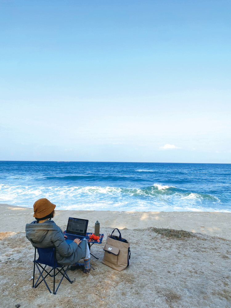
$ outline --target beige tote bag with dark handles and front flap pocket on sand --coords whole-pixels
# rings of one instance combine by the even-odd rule
[[[119,236],[112,235],[115,230],[118,230]],[[107,236],[107,242],[103,250],[103,264],[118,271],[128,267],[131,256],[130,243],[121,237],[119,229],[114,229],[112,233]]]

